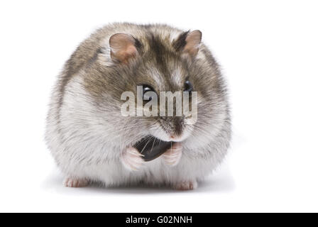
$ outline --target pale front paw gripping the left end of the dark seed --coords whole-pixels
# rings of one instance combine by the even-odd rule
[[[138,152],[136,148],[127,148],[123,155],[121,155],[121,163],[124,165],[126,170],[136,171],[143,165],[143,155]]]

